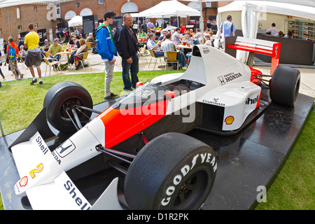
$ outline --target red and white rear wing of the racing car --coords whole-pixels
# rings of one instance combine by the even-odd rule
[[[248,66],[253,66],[255,53],[271,56],[271,75],[276,66],[279,65],[281,43],[254,38],[245,38],[242,36],[228,36],[225,38],[225,52],[233,57],[236,57],[237,50],[245,50],[249,52],[247,60]]]

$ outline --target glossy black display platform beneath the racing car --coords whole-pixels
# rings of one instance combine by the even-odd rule
[[[97,110],[109,104],[95,105]],[[222,137],[200,130],[188,133],[218,154],[216,182],[202,209],[254,209],[259,186],[269,188],[293,150],[314,106],[314,98],[299,94],[293,108],[271,104],[244,130]],[[31,209],[25,197],[15,195],[13,186],[20,178],[8,146],[23,132],[0,138],[0,189],[4,209]],[[98,160],[98,158],[95,158]],[[97,162],[97,161],[93,161]],[[76,181],[90,201],[96,200],[117,172],[108,170]],[[119,174],[121,176],[122,174]],[[89,186],[85,186],[86,183]],[[89,192],[89,193],[87,193]]]

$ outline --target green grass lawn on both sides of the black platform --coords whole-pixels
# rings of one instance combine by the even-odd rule
[[[146,82],[148,78],[174,72],[176,71],[141,71],[139,80]],[[104,102],[104,73],[43,77],[43,85],[29,85],[30,79],[3,82],[0,88],[0,120],[4,134],[27,127],[43,108],[43,99],[50,87],[64,80],[83,85],[90,92],[93,104]],[[123,91],[120,72],[114,73],[111,90],[116,94],[127,94]],[[267,202],[258,204],[256,209],[315,208],[314,133],[315,113],[311,112],[297,145],[267,192]],[[3,206],[0,197],[1,209]]]

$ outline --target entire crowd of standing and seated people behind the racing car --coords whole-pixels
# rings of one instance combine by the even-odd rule
[[[40,67],[41,62],[43,62],[43,57],[48,57],[48,62],[59,61],[61,55],[59,52],[62,52],[63,43],[66,43],[69,45],[69,50],[73,51],[69,57],[68,63],[75,64],[76,69],[78,69],[80,67],[78,60],[82,59],[83,52],[87,51],[86,42],[90,42],[92,52],[101,55],[104,61],[106,74],[104,99],[109,100],[117,96],[117,94],[114,94],[110,90],[116,56],[120,55],[122,58],[124,90],[132,91],[132,88],[135,88],[139,81],[137,76],[139,72],[139,58],[137,55],[139,50],[138,43],[146,43],[148,49],[154,50],[156,57],[163,55],[167,57],[166,51],[177,50],[177,58],[182,66],[186,65],[186,59],[188,59],[189,54],[186,50],[184,52],[181,51],[179,45],[183,43],[183,41],[190,45],[200,43],[201,33],[199,29],[196,29],[196,33],[193,32],[193,29],[190,29],[190,31],[181,34],[181,29],[179,28],[173,31],[172,34],[167,33],[167,31],[163,32],[156,42],[155,26],[158,27],[159,25],[157,23],[153,24],[150,20],[146,20],[140,26],[134,26],[132,16],[128,13],[123,17],[123,25],[113,34],[109,25],[113,24],[115,17],[116,14],[113,13],[113,11],[108,11],[104,14],[104,23],[97,28],[96,40],[92,33],[83,38],[82,32],[78,31],[78,29],[75,30],[72,36],[69,29],[57,29],[57,38],[54,38],[52,43],[48,43],[46,39],[42,48],[39,48],[39,36],[36,31],[34,31],[34,25],[30,23],[28,27],[29,34],[25,36],[24,42],[21,41],[20,38],[18,38],[18,45],[12,41],[13,38],[8,40],[8,44],[6,44],[6,41],[3,41],[3,43],[6,44],[3,52],[8,55],[8,45],[13,45],[16,55],[15,60],[10,60],[9,57],[6,57],[6,64],[8,64],[15,78],[19,79],[23,78],[24,75],[21,73],[20,69],[18,69],[16,62],[25,62],[33,77],[30,84],[33,85],[37,83],[37,77],[39,79],[38,83],[43,84]],[[212,34],[209,29],[206,30],[204,35],[206,44],[211,45],[209,41],[212,41]],[[115,36],[115,38],[113,36]],[[48,56],[46,56],[46,53]],[[172,66],[172,64],[169,64],[169,66]],[[34,67],[37,71],[37,77],[35,76]],[[53,68],[57,69],[57,64],[53,65]],[[4,79],[5,77],[1,69],[0,74]]]

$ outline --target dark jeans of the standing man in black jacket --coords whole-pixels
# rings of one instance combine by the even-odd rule
[[[124,83],[124,90],[130,90],[132,87],[136,88],[138,79],[138,71],[139,71],[139,57],[138,55],[132,55],[132,64],[127,62],[127,59],[122,59],[122,66],[123,66],[123,83]],[[130,75],[129,75],[130,71]],[[131,80],[130,80],[131,76]]]

